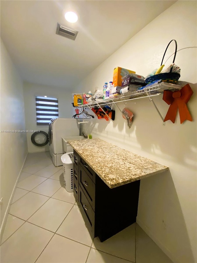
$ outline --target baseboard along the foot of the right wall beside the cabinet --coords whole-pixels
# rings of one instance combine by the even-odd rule
[[[158,247],[163,251],[163,253],[165,253],[171,259],[171,261],[173,261],[174,263],[182,263],[171,253],[171,251],[166,246],[164,246],[161,243],[161,241],[158,238],[156,238],[151,233],[147,225],[145,225],[141,220],[139,220],[138,217],[136,218],[136,223],[139,224],[139,226],[144,230],[144,232],[147,233],[147,235],[155,242],[156,245],[158,245]]]

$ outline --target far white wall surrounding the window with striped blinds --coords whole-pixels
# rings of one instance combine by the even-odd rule
[[[26,130],[42,130],[48,133],[49,126],[37,126],[36,125],[36,96],[47,96],[58,98],[59,106],[59,118],[72,118],[74,114],[71,103],[71,92],[66,91],[58,87],[50,87],[45,85],[38,85],[34,83],[24,82],[24,101],[25,101],[25,122]],[[28,152],[42,152],[49,151],[49,144],[43,147],[35,146],[31,142],[31,135],[33,133],[27,133]]]

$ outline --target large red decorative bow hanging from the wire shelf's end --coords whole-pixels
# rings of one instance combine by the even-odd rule
[[[183,123],[183,121],[185,120],[192,121],[192,117],[186,105],[192,94],[193,90],[191,89],[189,84],[186,84],[183,88],[174,92],[164,90],[163,100],[168,105],[170,105],[164,121],[171,120],[173,123],[175,123],[177,109],[179,109],[181,123]]]

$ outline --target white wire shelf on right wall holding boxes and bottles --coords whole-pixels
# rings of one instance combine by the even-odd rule
[[[124,94],[121,94],[115,97],[109,97],[104,100],[98,100],[98,101],[94,101],[91,103],[78,105],[77,107],[78,108],[81,108],[81,107],[91,108],[91,107],[98,106],[98,105],[102,106],[102,105],[107,105],[110,103],[117,103],[120,101],[139,99],[142,97],[152,97],[152,96],[156,96],[159,94],[163,94],[164,90],[170,90],[170,91],[180,90],[182,88],[181,81],[179,82],[179,84],[180,85],[161,82],[159,84],[154,84],[144,89],[140,89],[140,90],[136,90],[132,92],[126,92]]]

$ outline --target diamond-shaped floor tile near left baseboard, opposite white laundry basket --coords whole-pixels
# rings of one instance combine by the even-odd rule
[[[44,182],[45,180],[46,180],[45,177],[31,175],[28,178],[19,182],[17,187],[31,191],[32,189],[34,189],[36,186],[38,186],[40,183]]]

